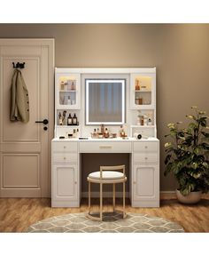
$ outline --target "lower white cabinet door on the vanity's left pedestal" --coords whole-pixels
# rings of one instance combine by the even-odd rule
[[[53,200],[78,199],[77,164],[54,164],[52,181]]]

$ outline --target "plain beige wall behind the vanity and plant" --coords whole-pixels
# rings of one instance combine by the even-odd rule
[[[54,37],[57,67],[156,67],[160,188],[166,124],[197,105],[209,113],[209,24],[0,24],[0,37]]]

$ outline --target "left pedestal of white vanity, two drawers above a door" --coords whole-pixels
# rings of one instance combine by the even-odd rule
[[[52,141],[51,144],[51,206],[79,207],[78,143]]]

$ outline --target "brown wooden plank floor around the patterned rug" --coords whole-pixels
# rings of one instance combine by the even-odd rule
[[[94,199],[92,210],[98,209]],[[120,202],[116,202],[120,204]],[[104,211],[111,211],[111,202],[104,199]],[[185,232],[209,232],[209,199],[196,205],[179,204],[176,200],[161,200],[159,208],[132,208],[127,212],[147,213],[179,223]],[[38,220],[71,212],[87,212],[87,199],[80,208],[51,208],[49,198],[0,198],[0,232],[24,232]]]

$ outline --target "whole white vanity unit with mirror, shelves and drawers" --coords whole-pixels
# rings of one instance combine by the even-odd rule
[[[80,206],[81,196],[86,192],[81,191],[81,179],[87,178],[82,175],[81,154],[127,153],[131,206],[159,207],[156,68],[56,68],[55,71],[51,206]],[[101,98],[103,95],[107,98]],[[125,108],[121,108],[124,110],[119,109],[124,104]],[[104,111],[106,119],[102,117]],[[66,125],[67,116],[74,114],[76,124]],[[118,134],[123,124],[127,137],[92,139],[91,134],[100,132],[101,124],[112,135]]]

